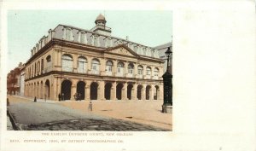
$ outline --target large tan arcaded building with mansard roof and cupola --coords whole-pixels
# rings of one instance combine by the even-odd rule
[[[84,30],[58,25],[31,50],[25,96],[59,100],[162,100],[158,50],[111,36],[103,15]]]

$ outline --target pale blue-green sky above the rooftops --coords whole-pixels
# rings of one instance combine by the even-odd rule
[[[155,47],[172,41],[172,11],[156,10],[9,10],[8,71],[26,63],[30,50],[58,24],[90,30],[99,14],[113,37]]]

